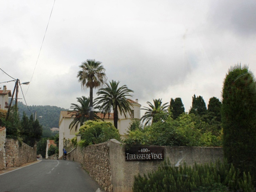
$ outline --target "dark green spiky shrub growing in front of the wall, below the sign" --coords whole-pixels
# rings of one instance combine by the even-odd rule
[[[250,174],[239,177],[239,171],[225,162],[171,166],[164,161],[158,170],[135,176],[134,192],[255,192]]]

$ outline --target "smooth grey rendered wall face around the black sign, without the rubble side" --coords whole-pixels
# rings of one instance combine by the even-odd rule
[[[223,160],[222,148],[214,147],[179,147],[165,146],[164,159],[169,159],[172,165],[204,164]],[[157,170],[162,161],[126,161],[125,145],[118,141],[110,141],[110,166],[112,173],[113,192],[132,192],[135,175],[148,174]]]

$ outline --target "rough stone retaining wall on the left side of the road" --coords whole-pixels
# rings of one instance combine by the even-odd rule
[[[24,142],[6,138],[5,150],[6,168],[36,161],[36,146],[30,147]]]

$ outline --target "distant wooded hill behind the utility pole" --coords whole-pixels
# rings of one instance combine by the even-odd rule
[[[23,112],[25,112],[25,114],[28,117],[30,117],[31,113],[28,110],[28,108],[32,112],[33,117],[35,112],[37,113],[36,114],[37,118],[39,116],[43,116],[42,118],[38,118],[38,120],[44,129],[59,127],[60,111],[68,110],[68,109],[60,108],[57,106],[50,106],[50,105],[46,105],[46,106],[32,105],[27,107],[22,102],[18,102],[18,110],[19,110],[20,118],[22,118]]]

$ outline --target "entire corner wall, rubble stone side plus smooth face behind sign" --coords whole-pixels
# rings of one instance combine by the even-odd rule
[[[164,148],[164,158],[173,165],[193,165],[223,160],[222,148],[170,147]],[[72,150],[68,160],[80,162],[106,192],[132,192],[134,176],[157,170],[162,161],[126,161],[125,145],[117,140]]]

